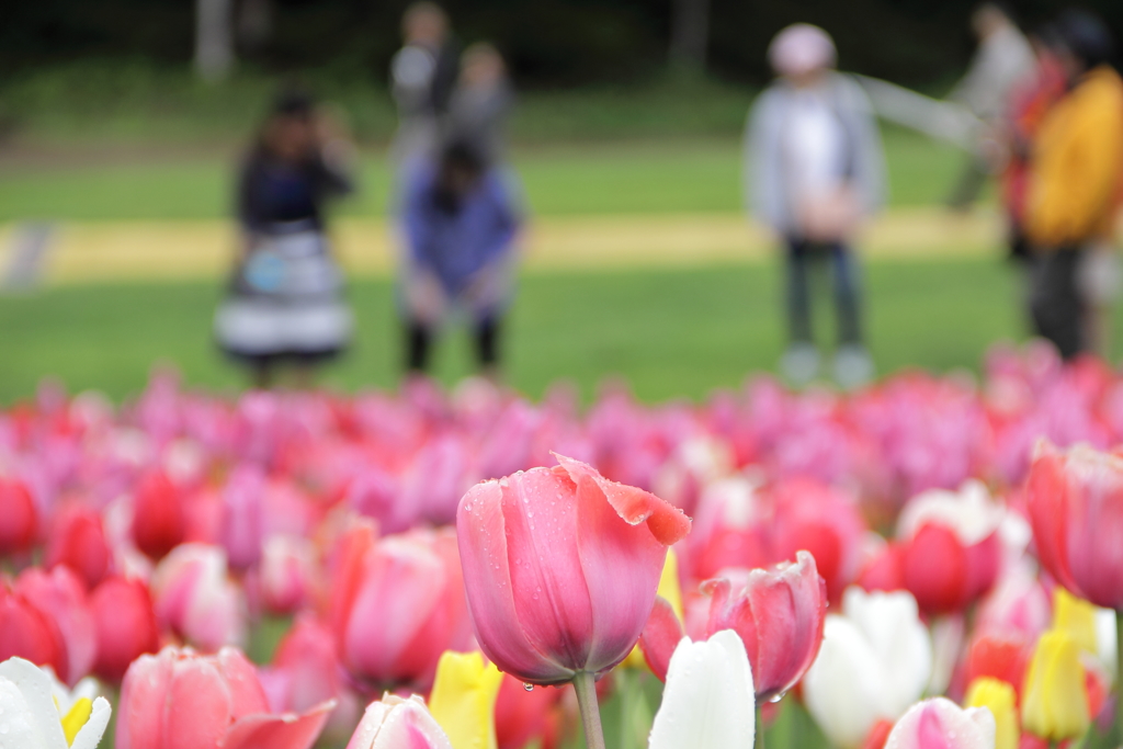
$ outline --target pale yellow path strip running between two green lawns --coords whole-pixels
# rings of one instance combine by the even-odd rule
[[[0,226],[0,272],[9,262],[11,231]],[[332,236],[349,273],[392,271],[396,243],[386,221],[340,219]],[[993,212],[957,217],[915,208],[885,213],[866,230],[860,248],[868,257],[965,256],[995,252],[1001,240],[1002,222]],[[774,252],[766,231],[734,213],[539,218],[522,244],[524,266],[535,271],[759,262]],[[65,223],[45,281],[214,278],[228,271],[235,246],[228,221]]]

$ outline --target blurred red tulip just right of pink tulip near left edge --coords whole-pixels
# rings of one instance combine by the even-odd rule
[[[129,664],[159,649],[159,629],[148,587],[138,579],[107,577],[90,595],[98,633],[93,672],[118,683]]]

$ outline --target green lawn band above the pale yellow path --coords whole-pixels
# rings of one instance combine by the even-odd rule
[[[885,134],[892,202],[939,201],[962,162],[951,147],[898,129]],[[232,161],[174,152],[102,165],[15,165],[0,171],[0,222],[27,218],[200,219],[228,216]],[[521,146],[514,166],[542,216],[736,211],[740,144],[733,138]],[[381,152],[364,154],[363,190],[341,207],[383,216],[390,174]]]

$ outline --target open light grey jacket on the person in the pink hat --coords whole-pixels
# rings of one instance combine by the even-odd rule
[[[885,155],[873,109],[861,86],[841,73],[830,73],[828,97],[847,134],[847,182],[861,208],[871,214],[885,202]],[[797,231],[783,137],[794,89],[783,80],[761,93],[745,128],[745,194],[748,209],[782,235]]]

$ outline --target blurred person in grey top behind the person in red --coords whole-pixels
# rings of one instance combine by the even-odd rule
[[[1033,74],[1037,61],[1011,13],[997,2],[983,2],[975,9],[971,30],[978,38],[978,49],[949,98],[967,104],[976,117],[993,125],[1006,113],[1014,88]],[[979,150],[985,152],[986,146],[979,144]],[[989,173],[987,159],[982,154],[973,155],[948,204],[956,210],[970,208]]]

